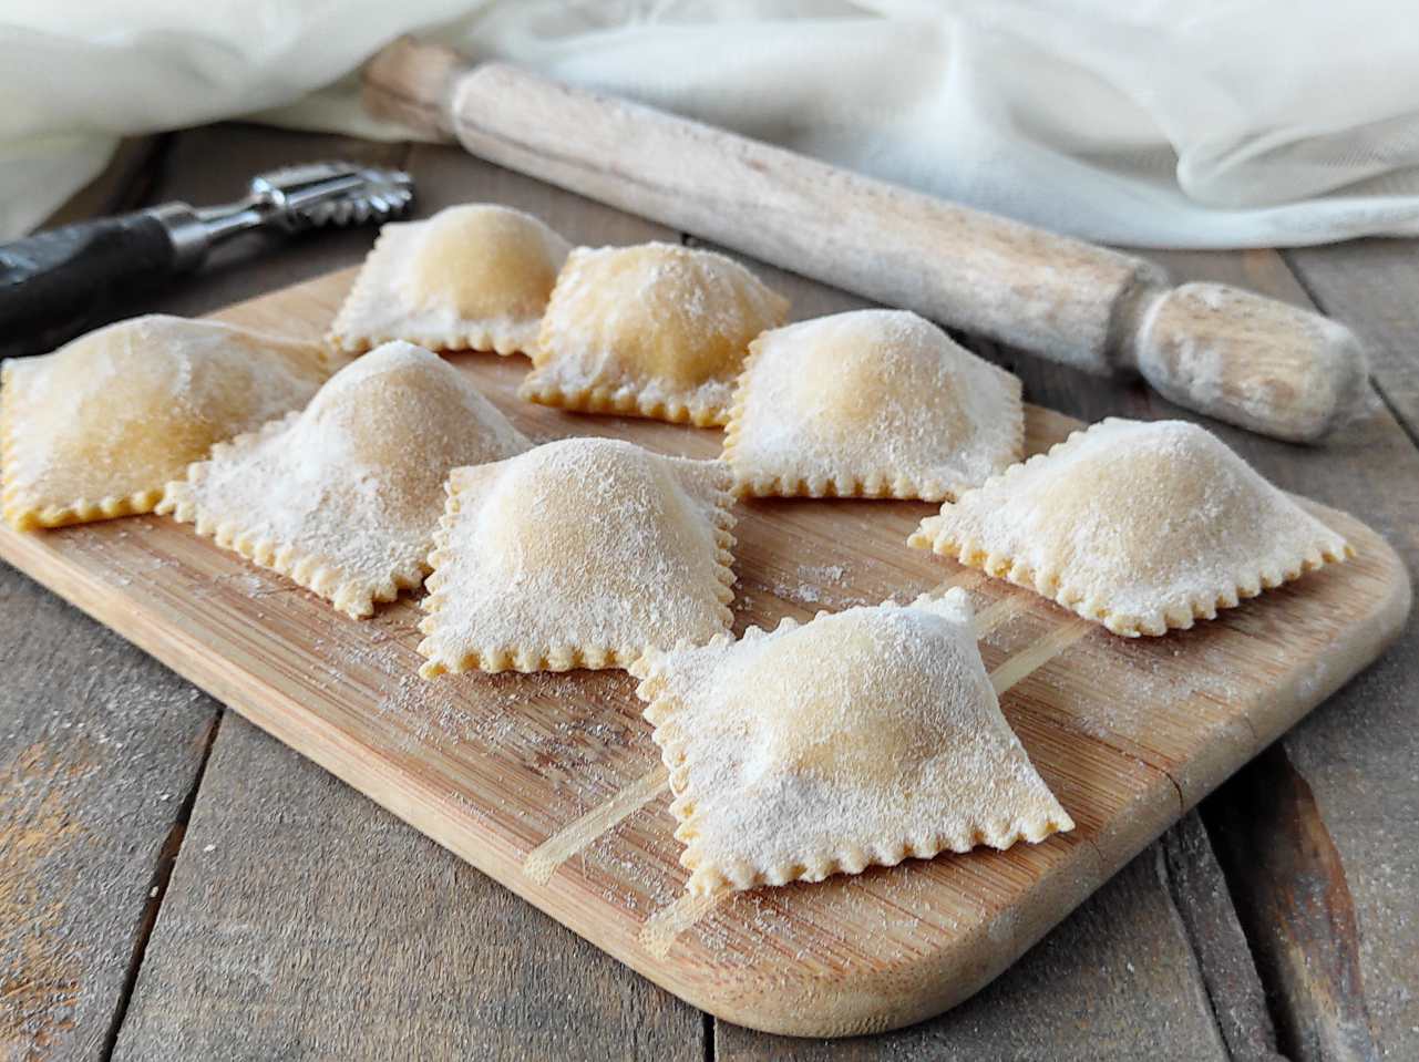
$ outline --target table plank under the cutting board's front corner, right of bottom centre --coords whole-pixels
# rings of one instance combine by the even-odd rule
[[[719,1062],[1122,1062],[1226,1059],[1156,845],[1120,871],[1009,973],[939,1018],[847,1041],[766,1036],[718,1022]]]

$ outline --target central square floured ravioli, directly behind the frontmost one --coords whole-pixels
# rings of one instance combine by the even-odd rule
[[[429,557],[421,673],[624,666],[732,620],[729,469],[569,438],[458,468]]]

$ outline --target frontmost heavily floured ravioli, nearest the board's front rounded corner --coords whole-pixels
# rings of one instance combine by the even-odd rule
[[[1073,829],[1010,730],[964,590],[636,661],[690,892]]]

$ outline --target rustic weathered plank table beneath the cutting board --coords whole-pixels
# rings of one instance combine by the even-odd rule
[[[410,169],[421,214],[495,200],[580,240],[675,235],[450,147],[243,125],[126,146],[58,220],[219,201],[261,169],[333,156]],[[370,238],[233,248],[129,309],[209,312],[353,264]],[[1315,305],[1368,340],[1375,407],[1342,440],[1222,434],[1419,569],[1415,241],[1154,257]],[[861,305],[766,272],[799,316]],[[1043,406],[1179,415],[1141,387],[972,346]],[[1413,620],[986,991],[837,1042],[667,995],[4,566],[0,647],[4,1059],[1419,1058]]]

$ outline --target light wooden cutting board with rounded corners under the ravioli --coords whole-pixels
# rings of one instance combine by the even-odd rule
[[[219,316],[316,336],[352,276]],[[521,357],[453,360],[534,440],[718,454],[718,431],[519,403]],[[1029,452],[1076,427],[1029,407]],[[719,902],[683,893],[666,774],[624,672],[424,682],[410,601],[348,620],[156,516],[3,527],[0,556],[684,1000],[759,1029],[837,1036],[975,993],[1398,634],[1410,600],[1399,557],[1354,518],[1307,508],[1351,540],[1354,561],[1193,631],[1128,641],[908,549],[935,506],[742,503],[735,631],[966,587],[1005,715],[1077,828]]]

